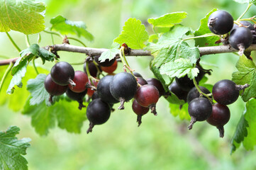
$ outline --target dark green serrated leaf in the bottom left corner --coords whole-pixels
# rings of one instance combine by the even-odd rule
[[[11,126],[5,132],[0,132],[0,169],[28,169],[28,162],[21,154],[26,154],[30,139],[18,140],[16,135],[19,130]]]

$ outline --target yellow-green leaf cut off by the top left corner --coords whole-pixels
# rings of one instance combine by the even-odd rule
[[[45,29],[45,4],[32,0],[0,1],[0,32],[17,30],[26,35]]]

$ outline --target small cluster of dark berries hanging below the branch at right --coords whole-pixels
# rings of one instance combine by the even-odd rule
[[[188,79],[187,83],[184,82],[184,84],[189,84],[190,81]],[[223,79],[214,84],[211,94],[204,86],[194,86],[189,90],[184,89],[183,84],[179,85],[178,82],[173,82],[169,86],[169,91],[172,91],[179,99],[189,103],[188,110],[191,117],[189,130],[192,129],[196,121],[206,120],[210,125],[216,126],[220,132],[220,137],[223,137],[223,126],[228,123],[230,118],[230,111],[226,105],[234,103],[238,99],[239,91],[245,89],[247,85],[240,86],[233,81]],[[217,103],[213,103],[213,99]]]

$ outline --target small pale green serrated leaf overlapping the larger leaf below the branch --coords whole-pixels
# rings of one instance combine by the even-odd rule
[[[180,58],[174,62],[167,62],[160,67],[160,74],[167,74],[169,77],[184,77],[186,74],[189,79],[194,79],[199,73],[199,69],[194,67],[190,60]]]

